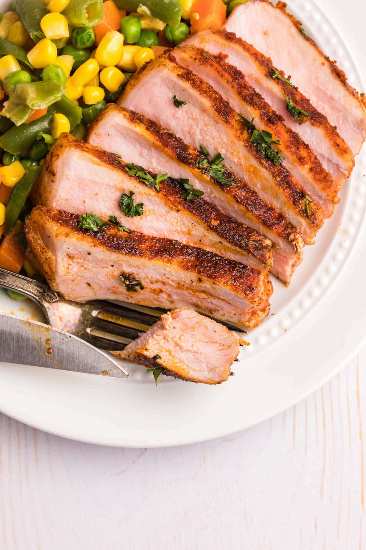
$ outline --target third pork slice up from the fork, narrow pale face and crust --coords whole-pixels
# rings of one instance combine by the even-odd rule
[[[189,179],[195,189],[204,191],[205,200],[216,205],[224,215],[271,239],[276,246],[272,273],[284,283],[290,282],[292,272],[302,259],[300,234],[234,174],[225,172],[233,185],[220,183],[208,172],[196,168],[202,157],[200,153],[153,120],[114,103],[89,125],[86,139],[106,151],[123,155],[127,162],[143,164],[155,173]]]

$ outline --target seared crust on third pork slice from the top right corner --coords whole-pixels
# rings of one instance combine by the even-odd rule
[[[187,54],[196,63],[199,63],[201,67],[209,67],[213,72],[221,76],[224,81],[228,82],[235,92],[237,92],[238,96],[258,112],[260,120],[272,132],[274,139],[279,139],[281,146],[295,158],[300,166],[307,169],[308,173],[311,174],[317,183],[318,188],[322,190],[322,193],[333,204],[338,204],[337,193],[339,189],[334,184],[331,175],[326,172],[319,162],[318,157],[313,153],[308,144],[300,138],[299,134],[286,127],[284,118],[277,114],[263,97],[249,85],[244,74],[239,69],[226,63],[222,55],[214,56],[194,46],[181,46],[179,52]],[[172,55],[174,55],[174,52],[172,52]],[[281,150],[281,147],[279,150]]]

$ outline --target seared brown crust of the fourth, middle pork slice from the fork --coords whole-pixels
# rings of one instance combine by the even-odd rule
[[[177,64],[176,59],[172,53],[167,53],[155,59],[154,62],[145,64],[133,79],[129,81],[122,94],[123,97],[127,97],[132,91],[133,87],[144,78],[149,72],[155,70],[157,67],[166,67],[168,70],[174,72],[179,80],[187,82],[192,89],[199,95],[205,98],[205,101],[209,101],[211,108],[216,114],[230,127],[233,134],[246,146],[251,155],[256,158],[257,162],[266,169],[273,179],[275,185],[281,190],[284,196],[291,203],[292,207],[299,213],[305,223],[312,227],[314,232],[317,232],[324,223],[324,216],[322,209],[316,204],[315,201],[308,203],[309,217],[306,215],[306,194],[303,189],[294,178],[291,177],[289,172],[284,166],[274,166],[264,158],[262,153],[258,152],[254,144],[251,143],[251,134],[243,124],[238,122],[237,113],[229,106],[227,101],[224,101],[221,95],[219,95],[209,84],[200,79],[189,69],[185,69]]]

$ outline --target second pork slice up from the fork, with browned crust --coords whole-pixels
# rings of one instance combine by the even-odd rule
[[[254,229],[225,216],[204,197],[185,201],[184,187],[171,178],[159,183],[158,192],[127,171],[128,165],[116,156],[63,134],[42,165],[32,191],[33,204],[75,214],[93,212],[105,220],[116,216],[140,233],[168,235],[261,270],[272,265],[273,245]],[[130,191],[135,204],[143,204],[142,216],[126,217],[121,212],[121,195]]]

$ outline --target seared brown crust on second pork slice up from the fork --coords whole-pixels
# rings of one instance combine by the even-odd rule
[[[55,175],[55,166],[61,155],[61,149],[64,147],[74,148],[93,156],[98,161],[107,164],[110,168],[125,173],[126,162],[115,155],[85,143],[82,140],[73,138],[71,134],[62,134],[56,144],[52,147],[49,155],[44,161],[44,169],[50,174]],[[149,171],[147,171],[149,172]],[[149,172],[150,175],[154,175]],[[127,174],[128,175],[128,174]],[[128,175],[129,178],[138,180],[138,178]],[[138,180],[139,184],[147,184]],[[228,241],[228,243],[244,250],[247,254],[257,257],[261,263],[271,266],[273,263],[272,251],[273,245],[269,239],[263,237],[260,233],[237,222],[235,219],[224,215],[215,205],[207,202],[204,197],[195,197],[193,200],[185,201],[182,194],[185,189],[174,179],[168,178],[159,183],[160,195],[170,202],[177,210],[187,210],[191,215],[200,219],[207,228],[215,232],[219,237]],[[157,191],[156,191],[157,193]],[[36,183],[32,191],[33,204],[42,204],[40,200],[39,187]],[[43,203],[44,204],[44,203]]]

